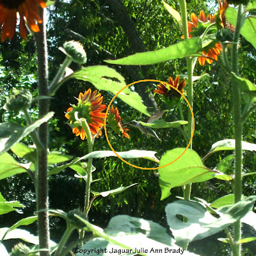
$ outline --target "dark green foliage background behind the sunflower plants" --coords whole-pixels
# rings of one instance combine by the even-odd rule
[[[71,40],[65,29],[72,29],[84,37],[83,44],[88,54],[88,62],[85,66],[90,65],[106,65],[103,60],[109,58],[106,51],[111,52],[115,58],[121,58],[132,54],[134,51],[129,45],[127,35],[124,30],[116,22],[108,1],[103,0],[71,0],[56,1],[56,4],[50,7],[48,27],[48,45],[49,45],[49,75],[50,79],[56,74],[58,67],[64,60],[65,56],[58,50],[66,40]],[[200,10],[205,13],[214,13],[214,6],[217,1],[191,0],[187,1],[189,13],[199,14]],[[133,20],[141,39],[148,51],[167,47],[180,40],[181,32],[179,26],[173,21],[169,13],[164,9],[160,0],[122,0],[124,6]],[[179,10],[177,1],[168,1],[173,8]],[[211,10],[208,6],[211,6]],[[215,9],[216,10],[216,9]],[[92,43],[99,45],[95,48]],[[255,83],[255,49],[243,38],[239,48],[241,57],[239,65],[241,68],[241,76],[250,79]],[[21,41],[19,36],[15,35],[12,42],[4,42],[0,44],[0,94],[1,106],[4,104],[4,96],[7,96],[12,88],[29,88],[36,95],[36,54],[35,42],[32,36],[28,36],[27,42]],[[115,68],[124,77],[127,84],[132,83],[134,79],[129,77],[124,69],[119,66],[109,65]],[[72,63],[73,70],[79,69],[79,65]],[[142,72],[139,70],[139,72]],[[204,157],[209,152],[211,145],[219,140],[233,138],[233,114],[230,85],[228,77],[217,63],[211,66],[206,64],[204,67],[196,65],[195,76],[208,73],[209,76],[195,83],[194,86],[194,114],[195,114],[195,136],[193,139],[193,149]],[[141,73],[142,74],[142,73]],[[167,63],[159,63],[153,65],[148,70],[148,74],[143,74],[145,79],[156,77],[162,81],[168,81],[168,77],[175,77],[179,74],[186,74],[186,61],[175,60]],[[74,156],[84,156],[87,154],[87,143],[81,141],[72,134],[70,127],[65,124],[66,118],[64,112],[69,104],[75,104],[79,92],[84,92],[92,88],[89,83],[81,81],[68,81],[63,84],[60,90],[54,95],[51,102],[51,110],[55,112],[54,119],[50,124],[49,145],[51,150],[60,150],[64,154],[72,154]],[[153,88],[153,87],[152,87]],[[93,88],[92,88],[93,89]],[[108,105],[113,95],[101,92],[104,96],[104,104]],[[166,106],[161,105],[159,98],[155,97],[162,109]],[[187,107],[184,105],[184,115],[186,116]],[[130,120],[147,119],[134,109],[126,106],[118,101],[115,106],[118,107],[122,118],[125,122]],[[33,117],[37,117],[36,104],[32,106],[31,113]],[[24,124],[22,113],[19,116],[12,116],[0,109],[1,122],[13,120]],[[179,120],[177,109],[174,109],[171,115],[164,115],[164,120]],[[113,147],[118,150],[129,149],[148,149],[156,150],[157,156],[161,157],[166,150],[175,147],[186,147],[182,134],[175,129],[159,129],[157,134],[162,138],[161,142],[149,139],[140,132],[131,128],[129,132],[131,139],[127,140],[122,137],[111,136]],[[254,113],[248,118],[244,125],[244,141],[256,143],[255,140],[255,115]],[[24,143],[31,145],[31,141],[26,139]],[[110,150],[105,136],[95,141],[95,150]],[[205,161],[205,165],[214,168],[218,162],[230,152],[218,152]],[[19,159],[20,160],[20,159]],[[253,172],[255,166],[255,154],[246,152],[244,154],[244,172]],[[21,161],[21,160],[20,160]],[[148,161],[133,160],[130,163],[147,166]],[[131,216],[153,220],[168,229],[164,207],[166,204],[176,200],[175,196],[182,196],[182,189],[172,189],[172,195],[163,201],[160,201],[161,191],[158,184],[157,173],[148,170],[139,170],[132,168],[120,161],[116,157],[106,159],[95,159],[93,165],[96,171],[93,173],[93,179],[101,179],[99,182],[92,184],[93,191],[108,191],[120,186],[129,186],[138,182],[138,186],[126,190],[124,193],[109,196],[107,198],[97,198],[92,205],[89,214],[89,220],[95,225],[106,227],[111,217],[117,214],[129,214]],[[152,165],[151,165],[152,166]],[[228,173],[233,173],[231,166]],[[244,195],[255,194],[255,177],[248,176],[244,180]],[[74,177],[74,171],[67,169],[59,175],[49,178],[49,198],[50,208],[62,209],[70,211],[71,209],[81,207],[84,203],[85,184],[81,179]],[[31,180],[26,174],[17,175],[9,179],[0,181],[0,192],[6,200],[18,200],[26,205],[22,210],[25,216],[31,216],[35,212],[35,193]],[[210,180],[202,184],[193,184],[193,197],[204,198],[207,202],[212,202],[217,198],[232,193],[231,186],[222,180]],[[20,212],[21,213],[21,212]],[[1,216],[0,225],[5,227],[15,223],[24,215],[14,212]],[[8,221],[7,221],[8,220]],[[35,227],[30,227],[32,232],[36,232]],[[65,230],[65,223],[57,218],[51,219],[51,237],[58,242],[61,234]],[[204,239],[192,243],[189,250],[200,255],[230,255],[229,247],[216,241],[217,237],[224,237],[225,234],[216,234],[214,237]],[[71,239],[74,239],[71,237]],[[213,242],[214,241],[214,242]],[[208,245],[207,245],[208,244]],[[210,244],[210,245],[209,245]],[[255,255],[248,249],[244,250],[243,255]]]

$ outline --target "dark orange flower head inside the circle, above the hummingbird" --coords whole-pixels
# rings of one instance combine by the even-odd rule
[[[169,77],[168,84],[177,88],[177,90],[179,90],[181,93],[184,93],[184,87],[186,85],[186,81],[185,79],[183,79],[179,83],[179,79],[180,79],[180,76],[177,76],[173,82],[172,77]],[[179,102],[181,95],[174,88],[172,88],[172,86],[168,84],[163,84],[163,83],[158,84],[157,90],[154,90],[153,92],[163,95],[164,97],[163,101],[166,102],[166,104],[173,106],[175,103]]]

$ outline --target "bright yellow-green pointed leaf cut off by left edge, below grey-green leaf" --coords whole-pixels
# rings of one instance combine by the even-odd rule
[[[0,180],[26,172],[26,168],[17,163],[8,153],[0,155],[0,166]]]

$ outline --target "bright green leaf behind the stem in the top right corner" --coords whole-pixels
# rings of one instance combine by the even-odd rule
[[[227,20],[233,26],[236,26],[237,10],[235,8],[228,7],[225,12],[225,16],[227,17]],[[253,16],[246,17],[240,33],[256,49],[256,19],[255,19],[255,17],[253,17]]]

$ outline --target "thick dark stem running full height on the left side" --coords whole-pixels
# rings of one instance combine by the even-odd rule
[[[48,61],[47,42],[44,9],[39,8],[42,24],[38,24],[40,32],[35,33],[36,51],[38,58],[38,92],[39,96],[48,96]],[[49,100],[38,100],[39,118],[49,111]],[[38,129],[39,140],[42,148],[38,149],[38,173],[37,173],[37,210],[38,212],[38,236],[39,248],[49,250],[49,213],[48,213],[48,180],[47,180],[47,122],[40,125]],[[40,211],[44,209],[44,211]],[[40,256],[50,256],[50,252],[40,252]]]

